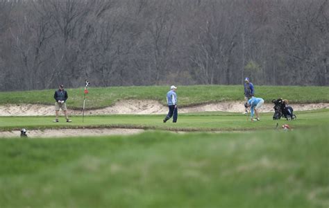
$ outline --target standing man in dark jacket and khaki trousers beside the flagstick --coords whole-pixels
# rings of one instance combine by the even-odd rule
[[[66,100],[69,96],[67,96],[67,92],[64,89],[63,85],[60,85],[58,90],[55,91],[55,94],[53,95],[53,98],[55,98],[55,111],[56,111],[56,119],[53,122],[58,122],[58,113],[60,109],[64,111],[66,122],[71,122],[69,120],[69,116],[67,116],[67,107],[66,107]]]

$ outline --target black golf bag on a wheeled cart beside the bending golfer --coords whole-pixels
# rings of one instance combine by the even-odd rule
[[[291,106],[287,105],[286,100],[282,100],[282,98],[278,98],[278,100],[272,100],[274,103],[274,114],[273,120],[281,119],[281,117],[285,117],[288,121],[292,119],[297,119],[297,116],[294,114],[294,109]]]

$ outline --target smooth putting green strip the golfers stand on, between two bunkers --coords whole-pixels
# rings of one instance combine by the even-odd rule
[[[196,114],[179,114],[178,123],[162,123],[165,115],[110,115],[72,116],[72,123],[66,123],[61,117],[59,123],[53,123],[53,116],[2,116],[0,130],[19,130],[21,128],[142,128],[154,130],[183,130],[183,131],[228,131],[228,130],[264,130],[275,128],[276,123],[289,123],[293,128],[305,128],[317,125],[328,125],[329,110],[313,110],[295,112],[297,119],[273,121],[273,113],[260,114],[262,121],[247,121],[247,115],[226,112],[203,112]]]

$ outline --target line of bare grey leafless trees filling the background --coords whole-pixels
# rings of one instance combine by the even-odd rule
[[[0,89],[328,85],[328,0],[3,0]]]

